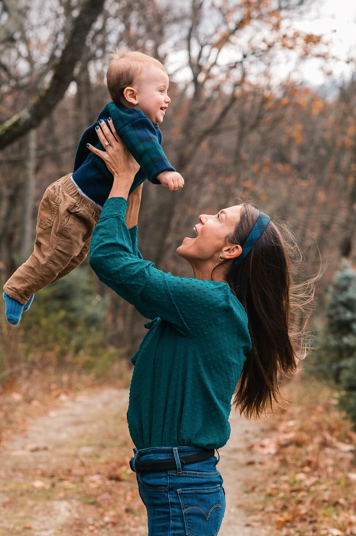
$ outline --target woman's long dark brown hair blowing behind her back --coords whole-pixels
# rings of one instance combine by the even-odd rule
[[[241,205],[240,219],[226,241],[243,246],[259,211],[252,204]],[[306,326],[317,277],[295,279],[302,257],[293,234],[280,227],[270,221],[240,264],[223,261],[230,263],[225,280],[245,308],[252,341],[233,399],[248,418],[272,408],[273,400],[280,404],[280,377],[290,376],[307,353]]]

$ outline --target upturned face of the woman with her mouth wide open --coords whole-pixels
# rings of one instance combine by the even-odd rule
[[[186,259],[193,269],[206,265],[211,269],[219,263],[219,255],[229,259],[240,253],[241,247],[225,243],[225,236],[231,233],[240,219],[241,205],[233,205],[216,214],[200,214],[195,225],[195,238],[185,237],[177,255]],[[192,231],[194,233],[194,230]],[[195,234],[195,233],[194,233]]]

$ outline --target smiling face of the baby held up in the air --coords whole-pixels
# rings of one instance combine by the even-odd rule
[[[162,123],[165,110],[171,102],[167,95],[168,84],[167,73],[156,66],[144,69],[133,83],[138,100],[135,108],[143,111],[154,124]]]

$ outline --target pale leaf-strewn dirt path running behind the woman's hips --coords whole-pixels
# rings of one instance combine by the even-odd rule
[[[0,536],[147,534],[126,410],[127,389],[82,393],[32,420],[26,437],[0,450]],[[257,536],[238,505],[252,477],[259,425],[231,412],[231,437],[219,452],[226,513],[219,536]],[[114,460],[114,461],[113,461]]]

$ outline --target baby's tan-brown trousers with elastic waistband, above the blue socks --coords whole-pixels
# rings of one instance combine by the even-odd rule
[[[39,207],[33,254],[6,281],[5,293],[23,305],[63,271],[78,266],[99,215],[100,209],[81,195],[69,175],[51,184]]]

